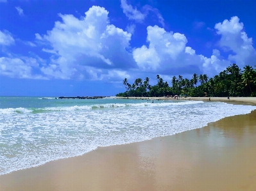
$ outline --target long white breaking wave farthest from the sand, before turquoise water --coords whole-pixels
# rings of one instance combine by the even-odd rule
[[[83,111],[92,109],[111,109],[119,107],[165,107],[171,105],[192,105],[203,103],[203,101],[184,101],[184,102],[165,102],[165,103],[104,103],[96,105],[74,105],[70,107],[44,107],[44,108],[7,108],[0,109],[0,114],[26,114],[26,113],[40,113],[40,112],[50,112],[50,111]]]

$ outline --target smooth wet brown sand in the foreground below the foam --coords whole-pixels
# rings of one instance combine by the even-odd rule
[[[256,190],[256,111],[0,176],[0,190]]]

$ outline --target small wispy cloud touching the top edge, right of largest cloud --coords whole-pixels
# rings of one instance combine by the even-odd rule
[[[137,8],[133,8],[132,5],[127,4],[126,0],[121,0],[121,8],[123,9],[126,17],[128,17],[130,20],[142,22],[146,17],[146,14],[141,13],[141,11],[138,11]]]

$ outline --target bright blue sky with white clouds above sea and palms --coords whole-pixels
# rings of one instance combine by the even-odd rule
[[[256,65],[254,0],[0,0],[0,96],[114,96],[123,79]]]

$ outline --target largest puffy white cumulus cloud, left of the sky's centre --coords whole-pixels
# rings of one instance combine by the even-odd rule
[[[37,40],[51,45],[52,49],[43,49],[45,52],[58,56],[42,67],[47,76],[97,79],[101,70],[92,72],[91,68],[122,70],[136,67],[132,53],[128,52],[132,34],[110,24],[105,8],[92,6],[81,19],[73,15],[59,16],[62,22],[55,22],[51,31],[42,36],[35,34]]]

